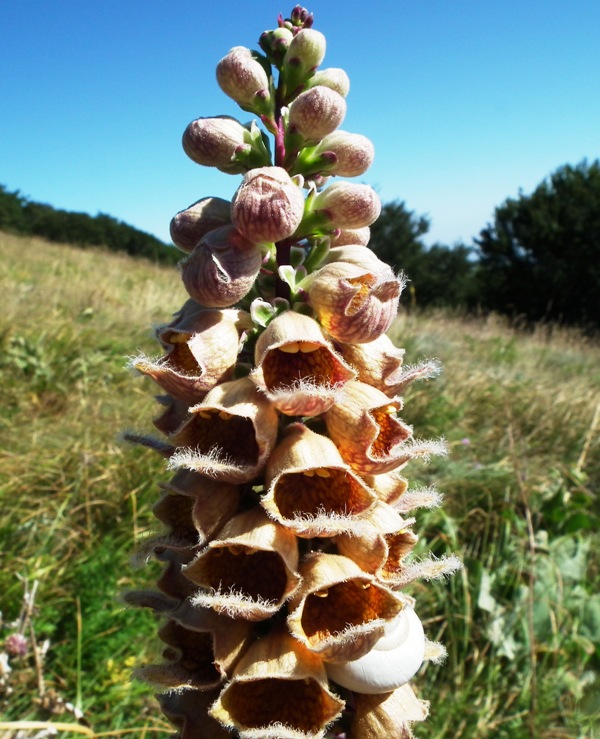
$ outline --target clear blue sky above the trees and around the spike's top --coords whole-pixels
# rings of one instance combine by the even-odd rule
[[[168,240],[172,215],[239,177],[181,149],[194,118],[240,111],[214,69],[293,2],[0,1],[0,183],[108,213]],[[557,167],[600,157],[598,0],[307,4],[323,67],[351,81],[347,131],[376,158],[360,178],[470,243],[494,207]]]

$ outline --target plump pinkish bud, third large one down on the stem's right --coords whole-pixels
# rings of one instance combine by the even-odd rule
[[[301,93],[290,105],[290,132],[317,142],[332,133],[346,115],[346,101],[335,90],[317,86]]]

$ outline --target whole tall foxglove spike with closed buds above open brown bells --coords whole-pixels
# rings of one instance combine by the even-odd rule
[[[439,495],[400,471],[444,448],[398,417],[438,368],[404,368],[386,336],[403,279],[368,248],[379,199],[331,182],[373,145],[339,129],[348,77],[320,68],[312,26],[298,6],[262,53],[217,65],[254,120],[192,121],[183,148],[242,181],[174,216],[189,300],[156,331],[164,354],[133,361],[161,388],[164,435],[136,440],[174,476],[143,552],[165,563],[159,592],[127,598],[163,617],[164,661],[139,673],[180,739],[409,737],[428,710],[409,682],[443,653],[405,589],[458,560],[411,560],[410,513]]]

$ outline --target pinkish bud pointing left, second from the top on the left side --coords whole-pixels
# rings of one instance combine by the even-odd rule
[[[183,150],[189,158],[205,167],[217,167],[229,174],[247,170],[235,155],[251,151],[250,131],[235,118],[216,116],[197,118],[183,132]]]

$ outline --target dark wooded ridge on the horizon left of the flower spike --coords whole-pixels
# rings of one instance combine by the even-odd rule
[[[104,246],[154,262],[174,264],[182,254],[151,234],[105,213],[90,216],[36,203],[0,185],[0,230],[27,236],[40,236],[76,246]]]

